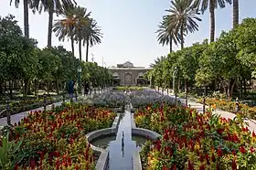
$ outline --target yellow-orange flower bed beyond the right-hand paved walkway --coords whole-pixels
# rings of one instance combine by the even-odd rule
[[[202,103],[202,98],[197,101]],[[206,98],[206,104],[227,112],[235,112],[236,109],[235,101],[227,101],[225,99]],[[256,119],[256,107],[249,107],[247,104],[240,103],[240,109],[249,118]]]

